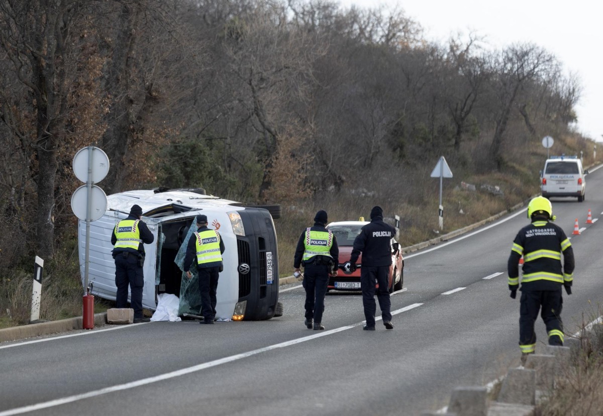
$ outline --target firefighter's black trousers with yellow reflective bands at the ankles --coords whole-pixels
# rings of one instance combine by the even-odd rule
[[[538,312],[545,322],[549,345],[563,345],[561,309],[563,297],[558,291],[522,291],[519,310],[519,345],[523,352],[534,352],[536,334],[534,323]]]

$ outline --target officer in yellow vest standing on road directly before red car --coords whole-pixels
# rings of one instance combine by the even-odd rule
[[[324,295],[329,285],[329,274],[337,276],[339,247],[327,224],[327,212],[320,210],[314,216],[314,225],[301,233],[295,249],[293,267],[304,266],[303,288],[306,289],[306,328],[323,330]],[[312,322],[314,320],[314,323]]]

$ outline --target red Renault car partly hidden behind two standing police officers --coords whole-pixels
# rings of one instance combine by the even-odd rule
[[[362,219],[362,218],[361,218]],[[397,218],[396,218],[397,220]],[[368,221],[339,221],[331,222],[327,228],[333,232],[337,238],[339,246],[339,268],[337,276],[329,277],[329,286],[327,291],[359,291],[360,288],[360,268],[362,263],[362,254],[358,257],[356,263],[356,271],[350,272],[349,264],[350,256],[352,256],[352,248],[356,236],[360,233],[361,228],[369,224]],[[400,252],[400,244],[396,239],[391,239],[391,266],[389,290],[390,293],[402,289],[404,282],[404,259]]]

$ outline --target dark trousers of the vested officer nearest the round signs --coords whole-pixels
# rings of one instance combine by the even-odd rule
[[[135,254],[115,254],[115,296],[116,307],[128,307],[128,286],[130,286],[130,306],[134,309],[134,319],[140,319],[142,315],[142,288],[145,279],[142,267],[138,265],[138,257]]]

